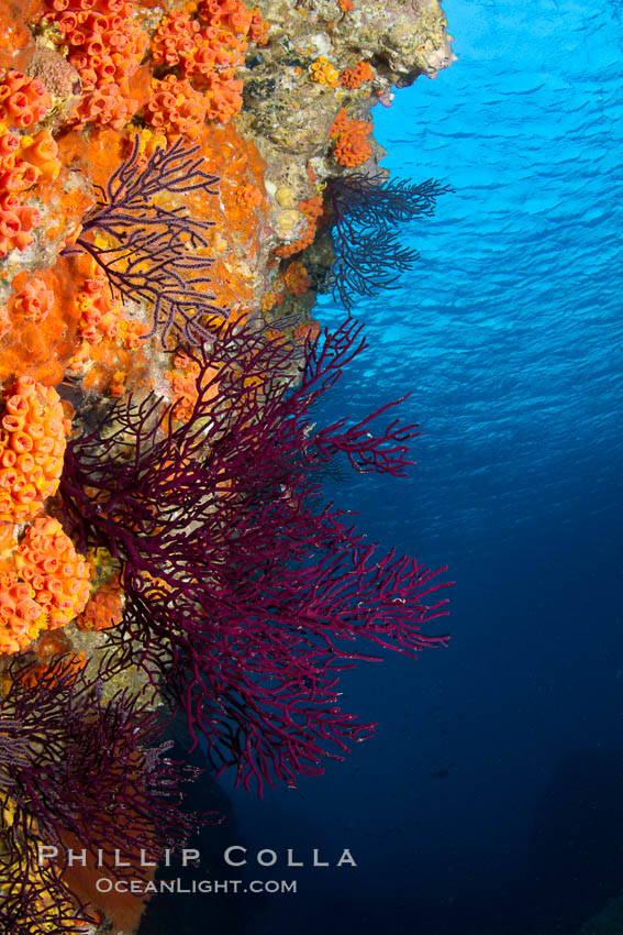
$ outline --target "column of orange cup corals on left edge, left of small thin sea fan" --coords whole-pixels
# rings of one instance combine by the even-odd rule
[[[47,130],[35,136],[24,131],[42,120],[52,98],[41,81],[10,70],[0,84],[0,257],[33,242],[32,229],[41,215],[20,196],[40,178],[58,174],[57,147]]]

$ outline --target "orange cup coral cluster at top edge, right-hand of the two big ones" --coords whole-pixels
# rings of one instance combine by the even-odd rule
[[[189,81],[192,81],[202,92],[204,117],[226,123],[242,107],[242,81],[235,78],[235,69],[244,64],[248,42],[266,41],[268,25],[257,10],[247,10],[241,0],[203,0],[191,9],[196,9],[199,19],[185,9],[174,10],[162,19],[152,40],[152,59],[156,65],[181,68],[185,89],[178,92],[175,110],[180,103],[188,107],[187,100],[192,99]],[[165,129],[167,111],[163,111],[159,102],[155,106],[157,91],[153,89],[147,112],[155,109],[162,122],[153,125]],[[193,111],[194,116],[198,113]],[[167,129],[167,132],[187,135],[173,120],[171,131]]]

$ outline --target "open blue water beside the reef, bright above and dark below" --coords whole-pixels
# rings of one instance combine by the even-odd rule
[[[622,8],[444,7],[459,61],[375,121],[396,175],[456,194],[404,231],[415,271],[356,308],[369,349],[323,418],[411,389],[412,476],[329,493],[449,565],[450,646],[345,678],[379,728],[324,778],[262,802],[224,782],[231,844],[357,868],[255,871],[299,892],[235,922],[189,898],[179,931],[576,935],[623,891]]]

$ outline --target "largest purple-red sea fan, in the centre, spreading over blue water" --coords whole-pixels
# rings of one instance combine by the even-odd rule
[[[445,636],[435,575],[378,554],[347,515],[320,502],[319,470],[338,454],[400,476],[415,426],[378,418],[325,428],[313,404],[361,350],[352,319],[297,363],[292,350],[226,323],[196,352],[189,421],[155,396],[116,404],[73,439],[59,508],[81,548],[122,562],[126,604],[111,666],[154,663],[220,774],[245,787],[323,772],[374,728],[338,706],[340,673],[365,642],[416,656]],[[443,571],[443,570],[442,570]]]

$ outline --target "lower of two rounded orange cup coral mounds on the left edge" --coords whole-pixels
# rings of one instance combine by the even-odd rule
[[[65,626],[89,598],[90,568],[57,519],[35,519],[2,564],[0,653],[19,652],[43,629]]]

